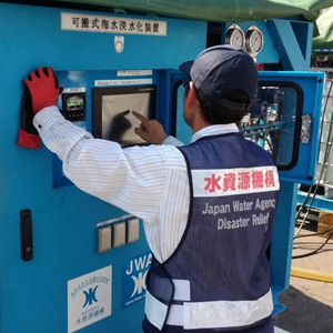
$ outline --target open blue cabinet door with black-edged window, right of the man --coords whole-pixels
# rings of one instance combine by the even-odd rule
[[[280,115],[276,118],[273,107],[268,103],[265,117],[273,119],[262,127],[250,125],[244,130],[250,135],[251,131],[266,133],[266,141],[271,140],[271,143],[268,149],[263,148],[273,154],[283,181],[314,183],[323,88],[324,73],[320,72],[260,72],[261,91],[279,91],[281,94],[278,97]],[[276,105],[276,101],[271,101],[271,104]],[[278,148],[274,152],[272,133],[276,132]]]

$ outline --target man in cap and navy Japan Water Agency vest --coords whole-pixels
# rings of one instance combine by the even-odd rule
[[[93,139],[59,113],[50,68],[24,80],[33,123],[77,186],[144,221],[153,253],[144,332],[271,333],[266,250],[278,171],[235,124],[255,94],[254,62],[242,49],[219,46],[180,69],[189,78],[188,147],[175,148],[181,143],[161,124],[138,113],[137,134],[154,144],[121,149]]]

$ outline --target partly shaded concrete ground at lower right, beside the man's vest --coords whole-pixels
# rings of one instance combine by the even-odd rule
[[[296,230],[296,229],[295,229]],[[316,232],[316,222],[306,223],[301,234]],[[300,238],[293,255],[317,249],[325,239]],[[294,259],[292,266],[333,273],[333,236],[323,250],[309,258]],[[280,295],[287,309],[275,319],[275,326],[290,333],[333,333],[333,283],[291,276],[291,287]]]

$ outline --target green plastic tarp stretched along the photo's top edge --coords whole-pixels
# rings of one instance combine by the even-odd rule
[[[56,0],[137,10],[211,22],[253,21],[306,14],[333,6],[332,0]]]

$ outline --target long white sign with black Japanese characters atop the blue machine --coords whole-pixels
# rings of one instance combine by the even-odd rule
[[[167,36],[167,21],[62,12],[61,30],[161,37]]]

